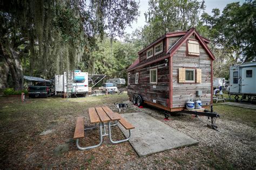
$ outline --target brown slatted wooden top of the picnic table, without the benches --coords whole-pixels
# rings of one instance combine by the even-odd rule
[[[119,121],[120,115],[113,112],[109,107],[89,108],[89,117],[91,123]]]

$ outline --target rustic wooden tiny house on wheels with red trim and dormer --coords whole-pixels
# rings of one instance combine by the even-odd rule
[[[191,28],[166,33],[139,51],[127,68],[130,100],[173,112],[186,110],[188,100],[200,98],[201,107],[210,109],[214,55],[208,43]]]

